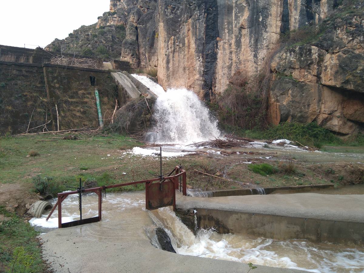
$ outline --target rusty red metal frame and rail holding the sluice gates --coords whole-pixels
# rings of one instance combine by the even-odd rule
[[[186,171],[183,170],[183,168],[181,166],[176,166],[174,168],[174,170],[170,173],[175,173],[175,175],[172,176],[167,176],[167,177],[163,177],[162,182],[164,181],[172,181],[174,183],[174,188],[178,189],[178,179],[181,177],[182,178],[182,194],[183,195],[187,195],[187,185],[186,185]],[[99,204],[99,209],[98,209],[98,216],[96,217],[91,217],[91,218],[86,218],[86,219],[82,219],[82,220],[76,220],[76,221],[72,221],[72,222],[68,222],[68,223],[62,223],[62,202],[64,201],[64,199],[67,198],[68,195],[71,194],[79,194],[78,191],[68,191],[68,192],[64,192],[64,193],[59,193],[58,194],[58,201],[56,203],[56,205],[53,207],[53,209],[51,210],[50,214],[47,217],[47,220],[51,217],[52,213],[54,212],[54,210],[56,209],[56,207],[58,206],[58,228],[62,228],[62,227],[71,227],[71,226],[78,226],[78,225],[83,225],[86,223],[94,223],[94,222],[98,222],[101,221],[101,204],[102,204],[102,191],[106,190],[106,189],[112,189],[112,188],[116,188],[116,187],[123,187],[123,186],[130,186],[130,185],[136,185],[136,184],[141,184],[141,183],[145,183],[145,197],[146,197],[146,209],[149,210],[148,207],[148,189],[149,189],[149,185],[153,182],[159,181],[161,182],[160,178],[154,178],[154,179],[147,179],[147,180],[142,180],[142,181],[136,181],[136,182],[129,182],[129,183],[123,183],[123,184],[116,184],[116,185],[110,185],[110,186],[102,186],[102,187],[95,187],[95,188],[91,188],[91,189],[85,189],[82,192],[83,193],[88,193],[88,192],[93,192],[96,193],[98,195],[98,204]],[[176,207],[176,198],[175,198],[175,191],[173,194],[173,210],[175,210]]]

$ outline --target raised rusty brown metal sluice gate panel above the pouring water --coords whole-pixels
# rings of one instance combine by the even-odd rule
[[[175,183],[171,180],[161,183],[146,183],[146,209],[155,210],[160,207],[175,205]]]

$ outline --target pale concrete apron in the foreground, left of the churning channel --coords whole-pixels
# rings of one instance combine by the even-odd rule
[[[146,235],[153,222],[145,210],[118,211],[117,207],[103,206],[103,215],[108,213],[116,215],[110,221],[56,229],[40,236],[44,258],[55,272],[249,272],[247,264],[155,248]],[[254,272],[302,271],[258,266]]]

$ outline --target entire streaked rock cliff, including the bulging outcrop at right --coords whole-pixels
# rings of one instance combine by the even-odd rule
[[[356,110],[363,104],[362,74],[357,72],[362,71],[363,17],[345,17],[341,8],[360,9],[362,1],[110,2],[110,12],[99,18],[96,28],[123,25],[125,37],[109,50],[134,68],[157,68],[163,87],[187,87],[209,100],[211,94],[222,93],[237,72],[270,72],[274,57],[269,107],[273,123],[317,120],[343,134],[361,130],[362,115]],[[335,20],[325,21],[336,13]],[[321,24],[327,28],[316,43],[282,46],[282,34]]]

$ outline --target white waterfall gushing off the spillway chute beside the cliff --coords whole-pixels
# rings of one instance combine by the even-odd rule
[[[219,137],[217,119],[211,116],[198,96],[186,88],[163,88],[146,76],[132,75],[157,96],[154,105],[155,127],[150,142],[190,144]]]

